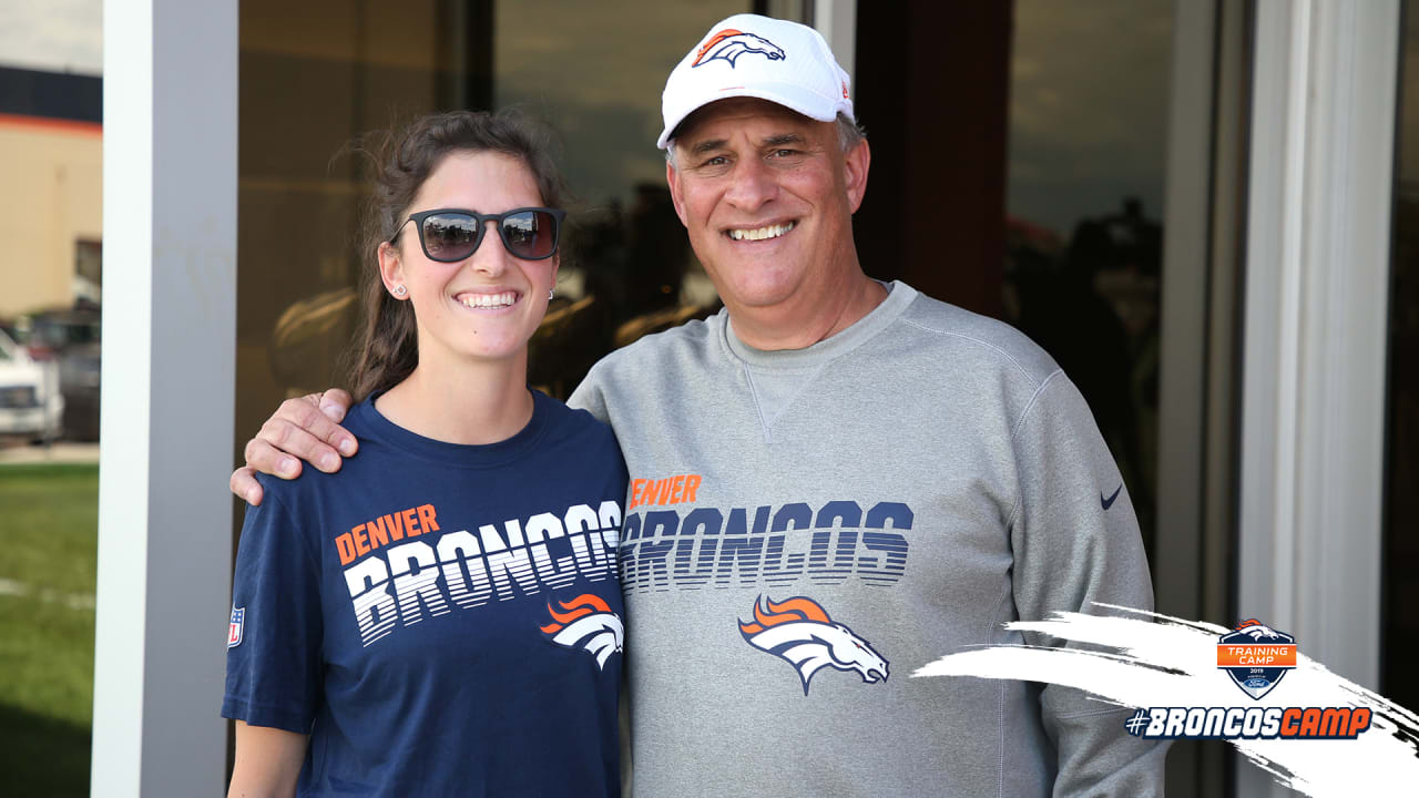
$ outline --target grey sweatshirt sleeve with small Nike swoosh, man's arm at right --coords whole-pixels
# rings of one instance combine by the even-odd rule
[[[1095,602],[1151,611],[1152,582],[1128,488],[1088,405],[1061,371],[1036,390],[1013,449],[1020,496],[1010,545],[1020,619],[1107,612]],[[1061,640],[1027,633],[1026,643]],[[1128,713],[1073,687],[1044,686],[1040,716],[1059,755],[1054,795],[1162,795],[1168,744],[1127,734]]]

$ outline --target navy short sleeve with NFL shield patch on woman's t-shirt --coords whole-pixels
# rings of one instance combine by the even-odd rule
[[[319,569],[280,493],[268,484],[241,527],[221,714],[309,734],[322,692]]]

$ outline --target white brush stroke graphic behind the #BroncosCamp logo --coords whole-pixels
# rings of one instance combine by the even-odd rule
[[[1127,707],[1342,707],[1374,713],[1355,740],[1229,740],[1280,784],[1314,798],[1393,795],[1419,784],[1419,717],[1303,653],[1296,670],[1261,700],[1252,700],[1218,670],[1222,626],[1125,606],[1097,605],[1135,618],[1060,612],[1049,621],[1016,621],[1006,629],[1039,632],[1095,650],[986,646],[944,656],[922,676],[973,676],[1064,684]],[[1301,640],[1304,643],[1304,640]],[[1100,650],[1103,649],[1103,650]],[[1120,728],[1122,733],[1122,728]]]

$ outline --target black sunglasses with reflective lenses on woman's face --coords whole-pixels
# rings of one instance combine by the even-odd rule
[[[507,213],[477,213],[457,207],[440,207],[410,214],[404,224],[419,226],[419,246],[429,260],[454,263],[478,250],[487,222],[498,223],[502,246],[522,260],[545,260],[556,254],[556,239],[562,231],[565,210],[555,207],[515,207]],[[399,226],[390,244],[399,240],[404,224]]]

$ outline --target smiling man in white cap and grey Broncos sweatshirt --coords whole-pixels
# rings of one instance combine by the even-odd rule
[[[1118,469],[1049,356],[863,273],[870,149],[847,87],[817,33],[749,14],[666,84],[666,177],[725,311],[609,355],[570,400],[614,427],[631,476],[634,787],[1161,794],[1165,748],[1117,707],[910,676],[1053,642],[1007,621],[1147,609],[1152,591]],[[328,444],[353,442],[315,402],[284,405],[248,463],[297,467],[278,442],[338,466]],[[325,402],[338,417],[348,399]]]

